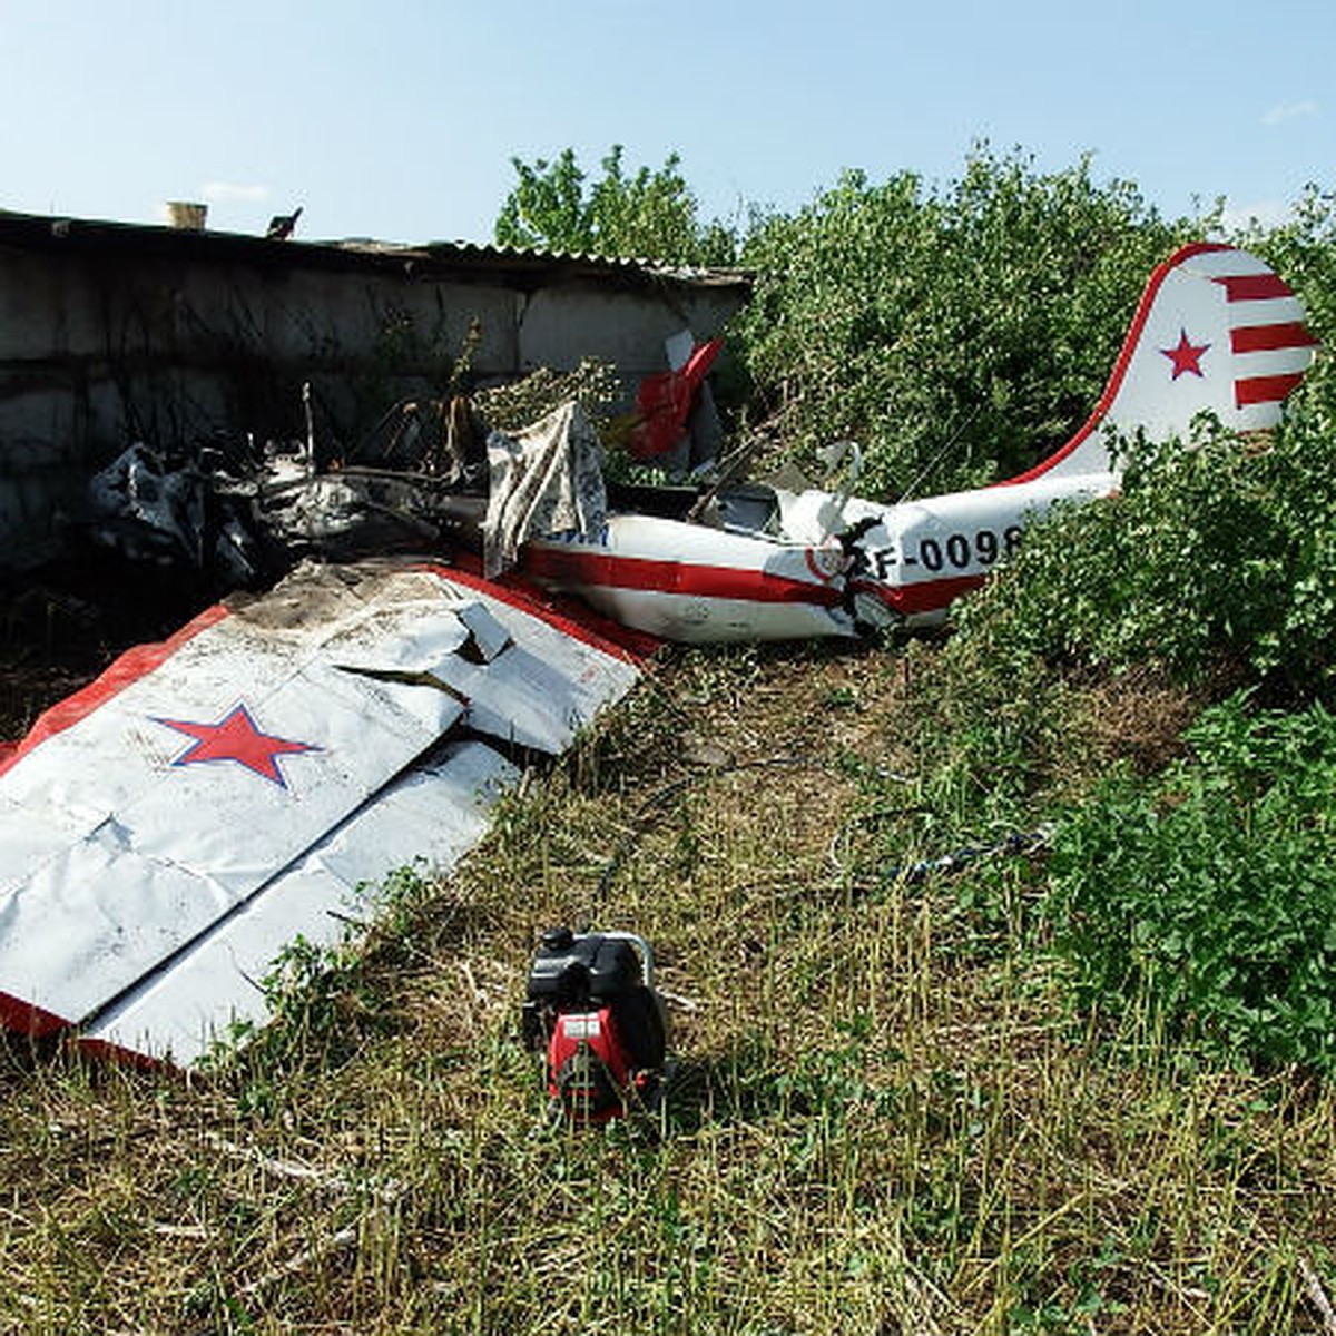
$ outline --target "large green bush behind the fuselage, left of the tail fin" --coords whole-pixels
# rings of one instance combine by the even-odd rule
[[[1162,222],[1088,160],[1039,175],[979,146],[945,190],[846,172],[754,227],[739,333],[787,440],[863,444],[862,490],[994,481],[1081,425],[1146,275],[1204,226]]]

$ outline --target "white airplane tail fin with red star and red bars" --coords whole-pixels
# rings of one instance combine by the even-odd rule
[[[1110,426],[1186,438],[1209,410],[1238,432],[1273,428],[1316,343],[1299,298],[1256,255],[1184,246],[1150,275],[1094,413],[1061,450],[1009,481],[1108,472]]]

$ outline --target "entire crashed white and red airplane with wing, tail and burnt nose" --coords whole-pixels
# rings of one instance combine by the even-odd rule
[[[94,522],[148,554],[236,582],[275,545],[434,556],[298,565],[131,651],[0,749],[0,1025],[196,1061],[265,1019],[286,943],[335,941],[415,856],[452,867],[517,766],[631,688],[647,637],[938,620],[1033,518],[1117,490],[1106,432],[1186,436],[1202,410],[1273,426],[1313,355],[1303,319],[1255,257],[1185,247],[1152,275],[1066,446],[1009,482],[898,505],[754,484],[695,497],[692,518],[619,509],[573,405],[450,468],[322,472],[310,440],[246,476],[127,453],[98,480]],[[695,350],[659,386],[665,437],[708,359]],[[369,521],[394,541],[367,540]],[[442,564],[460,541],[481,550],[472,570]],[[498,580],[508,565],[521,578]],[[534,587],[596,612],[557,611]]]

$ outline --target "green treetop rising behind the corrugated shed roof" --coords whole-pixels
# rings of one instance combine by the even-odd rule
[[[621,154],[621,144],[613,144],[592,184],[572,148],[553,162],[512,158],[520,179],[497,216],[497,244],[669,265],[732,262],[733,232],[700,220],[676,154],[655,171],[641,167],[633,174]]]

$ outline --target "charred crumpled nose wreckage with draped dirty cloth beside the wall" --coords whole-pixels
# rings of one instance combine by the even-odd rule
[[[496,574],[526,537],[596,534],[607,510],[603,446],[576,401],[506,434],[454,399],[395,405],[354,458],[329,466],[311,438],[174,452],[135,442],[71,518],[131,561],[254,588],[309,557],[460,546],[485,548]]]

